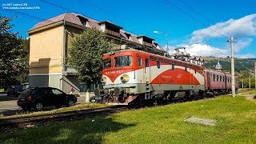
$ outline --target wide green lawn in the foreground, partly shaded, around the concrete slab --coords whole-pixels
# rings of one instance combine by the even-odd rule
[[[212,118],[216,126],[185,122]],[[256,102],[222,96],[18,130],[0,143],[256,143]]]

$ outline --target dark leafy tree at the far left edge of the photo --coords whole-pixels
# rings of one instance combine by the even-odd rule
[[[18,50],[21,49],[18,42],[18,34],[11,31],[12,18],[0,16],[0,87],[18,84],[19,63],[17,62]]]

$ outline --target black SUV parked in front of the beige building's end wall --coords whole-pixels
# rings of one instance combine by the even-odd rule
[[[23,110],[42,110],[44,106],[55,106],[56,108],[74,106],[77,98],[74,94],[65,94],[62,90],[53,87],[36,87],[26,89],[18,96],[18,106]]]

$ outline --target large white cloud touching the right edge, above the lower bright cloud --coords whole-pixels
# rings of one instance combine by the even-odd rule
[[[220,29],[221,28],[221,29]],[[217,32],[215,31],[218,31]],[[203,42],[208,38],[220,38],[221,34],[234,35],[235,37],[247,37],[256,35],[256,14],[250,14],[243,18],[233,19],[226,22],[218,22],[214,26],[209,26],[201,30],[195,30],[192,33],[190,43]]]

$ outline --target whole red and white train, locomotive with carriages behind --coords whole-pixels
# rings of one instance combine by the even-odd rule
[[[118,50],[102,58],[103,89],[96,102],[114,105],[153,104],[212,97],[231,91],[231,75],[142,50]],[[235,77],[238,90],[238,77]]]

